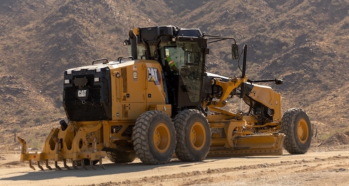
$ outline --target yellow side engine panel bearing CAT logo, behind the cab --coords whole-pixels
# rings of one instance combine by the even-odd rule
[[[155,60],[132,60],[109,67],[113,120],[136,120],[154,105],[165,105],[161,66]]]

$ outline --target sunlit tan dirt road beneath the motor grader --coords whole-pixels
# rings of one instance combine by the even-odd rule
[[[33,171],[18,160],[19,154],[0,153],[1,186],[349,185],[347,147],[314,149],[304,155],[284,152],[282,156],[211,158],[196,163],[173,159],[161,166],[144,165],[139,160],[126,165],[106,160],[105,170]]]

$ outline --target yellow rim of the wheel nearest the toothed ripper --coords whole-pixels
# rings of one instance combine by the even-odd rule
[[[153,134],[155,149],[159,153],[165,153],[170,148],[170,142],[171,134],[169,127],[167,127],[164,123],[159,123],[157,126],[155,126]]]

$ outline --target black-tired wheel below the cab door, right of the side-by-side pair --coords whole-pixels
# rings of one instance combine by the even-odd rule
[[[189,109],[174,118],[177,144],[176,156],[184,162],[202,161],[211,145],[211,132],[208,121],[202,112]]]

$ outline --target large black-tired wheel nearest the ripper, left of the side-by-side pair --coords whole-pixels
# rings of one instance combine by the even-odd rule
[[[168,163],[175,148],[175,130],[170,116],[161,111],[143,113],[133,128],[133,146],[138,158],[149,165]]]

